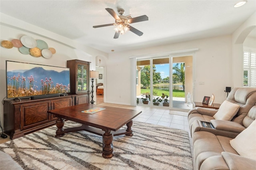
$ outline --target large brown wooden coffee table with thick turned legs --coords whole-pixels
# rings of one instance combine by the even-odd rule
[[[95,107],[105,108],[105,110],[93,114],[81,112]],[[55,135],[56,137],[62,137],[65,133],[80,130],[86,130],[101,135],[103,147],[102,156],[104,158],[111,158],[114,155],[112,144],[113,136],[120,134],[132,136],[132,119],[142,113],[142,111],[93,104],[75,105],[47,112],[58,117],[56,120],[56,126],[58,128]],[[64,129],[65,119],[81,123],[82,125],[80,127]],[[124,125],[127,126],[127,129],[119,130]]]

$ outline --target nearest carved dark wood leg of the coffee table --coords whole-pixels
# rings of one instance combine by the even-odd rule
[[[103,150],[102,150],[102,156],[103,158],[112,158],[114,155],[113,152],[113,133],[111,130],[104,130],[105,133],[102,136],[102,144],[103,144]]]

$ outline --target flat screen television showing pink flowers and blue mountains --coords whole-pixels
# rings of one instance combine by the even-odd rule
[[[6,98],[46,98],[70,92],[70,69],[6,61]]]

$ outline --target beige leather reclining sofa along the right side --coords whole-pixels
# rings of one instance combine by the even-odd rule
[[[227,101],[239,105],[231,121],[214,119],[221,108],[189,112],[196,170],[256,170],[256,88],[234,88]]]

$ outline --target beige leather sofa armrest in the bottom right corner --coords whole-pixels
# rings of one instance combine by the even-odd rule
[[[255,170],[256,160],[254,159],[232,154],[230,152],[221,152],[221,155],[230,170]]]

